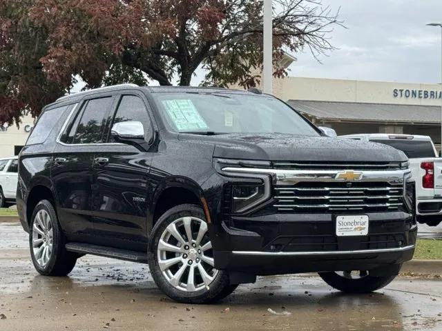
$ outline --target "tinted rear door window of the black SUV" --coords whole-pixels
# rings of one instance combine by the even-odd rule
[[[79,119],[73,143],[102,143],[113,98],[89,100]]]

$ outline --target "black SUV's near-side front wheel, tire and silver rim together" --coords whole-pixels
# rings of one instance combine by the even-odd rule
[[[189,233],[186,228],[191,229],[191,241],[186,235]],[[180,240],[169,230],[180,236]],[[204,236],[198,236],[200,230],[205,230]],[[173,252],[164,243],[174,246]],[[192,243],[196,247],[193,248]],[[190,204],[177,205],[165,212],[152,230],[148,263],[153,280],[168,297],[181,303],[212,303],[223,299],[238,285],[230,284],[227,272],[213,268],[212,252],[202,208]],[[173,264],[164,262],[171,259]],[[200,271],[201,268],[204,271]]]

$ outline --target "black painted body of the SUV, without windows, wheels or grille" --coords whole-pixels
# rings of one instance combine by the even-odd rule
[[[267,250],[269,243],[284,236],[313,236],[332,229],[332,214],[276,214],[267,211],[268,203],[249,214],[232,219],[224,217],[224,188],[232,183],[247,183],[251,179],[224,177],[215,171],[213,158],[249,159],[262,161],[406,161],[402,152],[373,143],[329,137],[299,137],[287,134],[220,134],[201,136],[176,134],[166,129],[152,99],[155,92],[174,92],[175,88],[115,87],[68,97],[46,109],[70,105],[44,143],[28,145],[19,156],[19,185],[17,204],[23,228],[28,231],[29,215],[38,199],[52,199],[57,206],[61,228],[68,241],[91,245],[146,252],[150,231],[167,192],[180,189],[179,201],[204,198],[212,223],[209,233],[218,268],[253,270],[256,274],[329,270],[332,261],[273,268],[276,260],[266,259],[260,271],[260,259],[233,259],[232,250]],[[180,88],[181,92],[213,92],[221,90]],[[226,90],[222,90],[226,91]],[[236,94],[248,92],[232,92]],[[117,109],[119,98],[131,94],[142,97],[152,122],[151,145],[136,148],[122,143],[69,145],[57,141],[64,122],[74,105],[81,110],[84,100],[92,97],[114,97],[110,118]],[[75,113],[74,113],[75,115]],[[71,117],[71,121],[73,117]],[[108,139],[111,120],[105,123],[104,137]],[[62,133],[62,132],[61,132]],[[105,142],[106,142],[105,139]],[[107,140],[109,141],[109,140]],[[146,142],[147,144],[147,142]],[[170,200],[170,197],[169,197]],[[410,228],[413,211],[371,215],[376,221],[373,231],[403,234],[406,243],[414,243],[416,233]],[[230,223],[229,223],[230,222]],[[235,225],[233,227],[232,225]],[[359,242],[340,243],[356,247]],[[371,267],[385,263],[401,263],[410,253],[368,256]],[[219,257],[219,258],[218,258]],[[284,260],[284,259],[282,259]],[[364,265],[365,259],[340,258],[340,267],[351,260],[352,267]],[[302,259],[305,261],[305,259]],[[278,261],[281,263],[281,261]],[[335,264],[336,265],[336,264]],[[325,269],[324,269],[325,268]]]

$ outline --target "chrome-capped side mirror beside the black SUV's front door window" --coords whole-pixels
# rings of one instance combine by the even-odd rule
[[[144,126],[138,121],[115,123],[111,135],[119,143],[127,143],[147,152],[149,144],[144,139]]]

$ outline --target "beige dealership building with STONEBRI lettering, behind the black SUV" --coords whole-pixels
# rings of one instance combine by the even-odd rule
[[[293,59],[287,59],[287,66]],[[439,84],[391,83],[285,77],[275,79],[273,94],[318,126],[340,134],[424,134],[441,145],[442,92]],[[34,121],[0,130],[0,157],[18,154]]]

